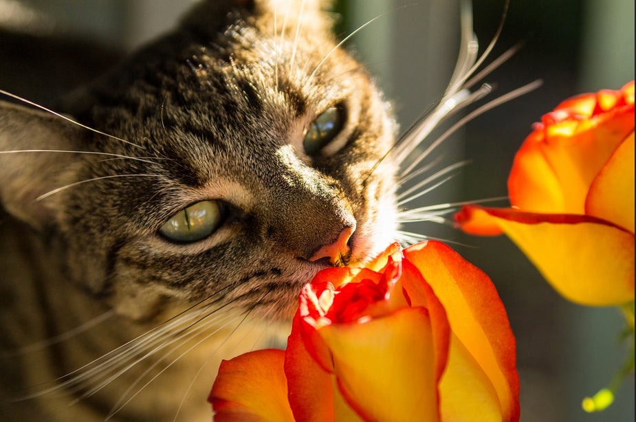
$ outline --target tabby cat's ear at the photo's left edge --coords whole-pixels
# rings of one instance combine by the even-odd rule
[[[83,133],[50,113],[0,101],[0,202],[17,219],[39,229],[54,223],[56,200],[38,200],[63,184]]]

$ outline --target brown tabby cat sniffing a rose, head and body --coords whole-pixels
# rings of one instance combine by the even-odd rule
[[[476,53],[397,144],[328,6],[204,0],[55,113],[0,102],[0,419],[208,420],[221,358],[400,238],[399,165]]]

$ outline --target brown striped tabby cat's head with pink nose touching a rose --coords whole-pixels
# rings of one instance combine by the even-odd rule
[[[96,153],[0,154],[4,208],[133,318],[167,298],[289,316],[318,270],[395,238],[395,124],[330,26],[317,0],[201,3],[69,97],[109,136],[1,105],[0,151]]]

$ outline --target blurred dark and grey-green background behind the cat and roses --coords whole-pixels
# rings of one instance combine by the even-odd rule
[[[133,49],[171,27],[193,2],[0,0],[0,27],[25,32],[0,32],[0,89],[46,104],[113,63],[121,49]],[[435,106],[452,74],[459,51],[459,1],[340,0],[335,8],[340,38],[380,16],[347,47],[368,65],[393,102],[402,129],[408,129]],[[503,19],[505,1],[475,0],[472,8],[483,51]],[[30,49],[33,34],[51,36],[52,45]],[[53,36],[74,38],[80,59],[72,64],[67,49],[56,49]],[[102,47],[88,47],[94,41]],[[469,164],[410,207],[505,196],[514,153],[532,122],[565,98],[619,89],[633,79],[634,1],[511,0],[490,57],[518,43],[518,52],[485,78],[496,87],[490,98],[536,79],[542,86],[488,111],[447,140],[435,155],[443,157],[436,169],[463,159]],[[451,242],[497,286],[517,338],[522,421],[634,420],[633,375],[608,410],[586,414],[580,406],[624,362],[623,318],[617,309],[580,307],[560,298],[503,236],[465,236],[450,223],[420,223],[408,230]]]

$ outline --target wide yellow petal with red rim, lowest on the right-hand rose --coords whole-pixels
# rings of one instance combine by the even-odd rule
[[[565,298],[591,306],[634,300],[633,233],[592,216],[472,212],[489,214]]]

